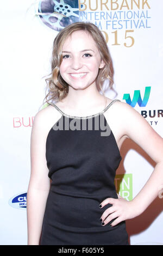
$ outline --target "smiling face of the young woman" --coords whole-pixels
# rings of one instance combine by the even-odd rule
[[[96,42],[85,31],[75,31],[62,47],[61,77],[74,89],[96,86],[99,69],[104,66]]]

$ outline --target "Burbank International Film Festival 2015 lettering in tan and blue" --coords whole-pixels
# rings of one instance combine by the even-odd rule
[[[136,30],[151,29],[150,5],[148,0],[79,0],[79,20],[101,29],[107,44],[129,48]]]

